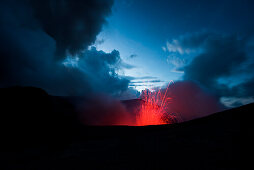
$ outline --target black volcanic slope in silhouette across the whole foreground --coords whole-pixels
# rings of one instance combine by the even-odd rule
[[[174,125],[84,127],[40,89],[0,98],[1,169],[241,169],[253,137],[254,104]]]

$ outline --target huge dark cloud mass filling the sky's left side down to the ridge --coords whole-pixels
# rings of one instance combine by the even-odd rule
[[[111,5],[106,0],[1,1],[0,87],[35,86],[54,95],[125,91],[129,80],[117,74],[119,52],[87,49]]]

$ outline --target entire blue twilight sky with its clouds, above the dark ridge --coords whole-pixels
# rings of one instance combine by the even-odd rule
[[[2,0],[0,87],[135,98],[173,80],[226,106],[253,102],[253,9],[251,0]]]

